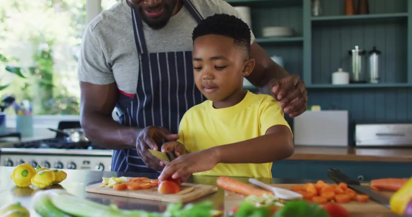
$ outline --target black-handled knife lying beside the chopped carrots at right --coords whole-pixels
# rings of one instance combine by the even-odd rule
[[[335,183],[344,182],[348,187],[359,192],[361,194],[366,194],[370,199],[380,203],[386,207],[389,206],[389,198],[385,195],[379,194],[372,190],[369,186],[361,185],[361,182],[351,179],[349,176],[345,175],[339,169],[329,169],[328,171],[329,178]]]

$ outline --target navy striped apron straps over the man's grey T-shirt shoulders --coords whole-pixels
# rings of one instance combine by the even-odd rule
[[[187,8],[187,10],[190,12],[197,23],[203,20],[203,17],[194,7],[192,2],[190,2],[190,0],[183,0],[183,5]],[[145,35],[143,33],[142,19],[140,19],[140,14],[134,7],[131,7],[131,17],[133,23],[134,41],[136,42],[138,54],[148,53]]]

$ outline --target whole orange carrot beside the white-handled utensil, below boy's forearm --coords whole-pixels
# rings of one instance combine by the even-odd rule
[[[239,194],[244,194],[244,195],[256,195],[256,196],[262,196],[263,194],[273,194],[272,192],[262,190],[262,189],[257,189],[255,187],[252,187],[248,184],[245,184],[243,182],[239,182],[238,180],[234,180],[232,178],[229,178],[227,176],[220,176],[216,180],[216,184],[221,187],[222,189],[236,192]]]

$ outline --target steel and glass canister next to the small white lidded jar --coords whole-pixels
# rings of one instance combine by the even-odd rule
[[[355,49],[349,51],[349,55],[352,56],[352,73],[351,82],[365,82],[365,69],[364,69],[364,58],[366,51],[360,50],[359,46],[355,46]]]

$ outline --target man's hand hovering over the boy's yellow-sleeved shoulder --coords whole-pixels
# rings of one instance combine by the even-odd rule
[[[280,106],[289,117],[295,118],[306,111],[308,101],[306,85],[298,75],[293,74],[279,81],[273,81],[270,87],[274,97],[280,101]]]

